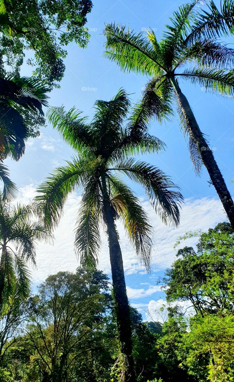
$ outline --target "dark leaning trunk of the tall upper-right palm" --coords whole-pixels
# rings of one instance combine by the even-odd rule
[[[226,211],[226,214],[231,223],[231,226],[234,229],[234,202],[232,200],[231,194],[229,193],[227,189],[223,175],[221,174],[221,171],[219,170],[216,160],[214,159],[212,150],[210,149],[203,134],[201,133],[201,130],[198,126],[198,123],[195,119],[195,116],[192,112],[192,109],[188,103],[187,98],[181,92],[175,78],[171,78],[171,82],[174,86],[174,90],[177,95],[179,106],[189,126],[190,133],[192,133],[193,137],[196,140],[198,151],[201,155],[203,164],[205,165],[210,175],[211,182],[217,191],[217,194],[223,204],[224,210]]]

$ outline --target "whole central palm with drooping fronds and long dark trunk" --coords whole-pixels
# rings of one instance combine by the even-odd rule
[[[158,168],[132,156],[159,152],[163,143],[148,133],[132,133],[132,121],[123,126],[130,107],[121,90],[109,102],[98,100],[96,113],[88,123],[81,112],[72,108],[50,108],[47,115],[54,128],[76,152],[77,156],[60,167],[38,188],[39,211],[48,228],[58,225],[67,196],[82,188],[82,199],[75,233],[75,250],[81,265],[96,267],[101,247],[100,226],[109,241],[110,264],[116,302],[120,346],[125,358],[125,379],[136,381],[132,358],[131,322],[123,271],[122,253],[116,220],[122,220],[137,256],[149,270],[151,231],[148,217],[138,198],[118,174],[128,176],[146,191],[149,201],[165,223],[179,224],[182,195]],[[175,188],[175,190],[174,190]]]

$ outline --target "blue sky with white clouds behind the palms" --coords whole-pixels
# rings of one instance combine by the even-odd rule
[[[75,105],[83,110],[85,115],[92,117],[92,109],[96,99],[109,100],[120,87],[130,95],[132,102],[141,96],[141,89],[147,79],[139,75],[122,73],[119,67],[103,57],[105,38],[102,36],[104,23],[128,24],[130,29],[145,31],[148,27],[154,29],[157,38],[168,23],[168,17],[182,2],[165,0],[102,0],[93,1],[94,7],[88,15],[86,26],[90,28],[91,39],[87,49],[80,49],[75,44],[67,47],[68,56],[65,60],[66,72],[61,81],[60,89],[54,89],[50,94],[50,105],[64,104],[67,109]],[[29,75],[29,69],[24,66],[22,75]],[[200,86],[193,86],[180,80],[180,87],[187,95],[201,131],[207,135],[210,146],[221,168],[227,186],[234,193],[233,175],[233,100],[223,99],[206,94]],[[86,90],[84,90],[86,89]],[[128,244],[123,228],[119,226],[123,261],[126,272],[126,284],[131,303],[140,309],[145,318],[148,308],[153,312],[165,299],[164,293],[156,286],[158,275],[168,267],[175,258],[173,244],[177,237],[185,231],[201,228],[206,230],[219,221],[225,220],[222,206],[214,188],[208,184],[205,168],[200,178],[195,176],[189,159],[187,142],[180,133],[177,116],[172,123],[152,123],[151,133],[162,139],[167,149],[160,155],[148,155],[144,159],[160,167],[172,177],[174,183],[180,186],[185,197],[181,225],[177,230],[162,225],[154,211],[145,200],[143,190],[134,185],[134,190],[142,199],[156,229],[154,238],[154,254],[151,275],[146,275],[143,267],[135,260],[133,249]],[[44,180],[48,173],[63,164],[72,155],[70,147],[60,139],[51,126],[41,129],[41,137],[30,139],[26,145],[24,157],[18,162],[6,161],[10,167],[11,178],[20,190],[19,199],[28,202],[34,195],[36,186]],[[77,262],[73,253],[73,229],[75,227],[76,211],[80,193],[72,195],[65,209],[64,218],[55,232],[54,246],[39,244],[37,253],[37,270],[33,270],[34,285],[41,282],[47,275],[59,270],[75,270]],[[191,241],[192,244],[195,240]],[[186,243],[188,244],[188,243]],[[103,240],[100,254],[100,269],[109,274],[109,254],[107,242]],[[154,318],[157,318],[152,313]]]

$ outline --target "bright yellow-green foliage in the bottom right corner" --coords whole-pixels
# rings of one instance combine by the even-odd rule
[[[203,362],[203,380],[211,382],[231,381],[234,377],[234,316],[226,314],[197,315],[190,320],[190,333],[185,335],[184,343],[187,356],[183,362],[191,374],[201,374]],[[205,371],[205,372],[204,372]]]

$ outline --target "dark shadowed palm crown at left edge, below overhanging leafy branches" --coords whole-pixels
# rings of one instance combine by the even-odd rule
[[[0,160],[11,156],[19,160],[24,154],[25,139],[29,129],[22,110],[44,115],[42,105],[47,106],[48,87],[28,77],[0,78]]]

